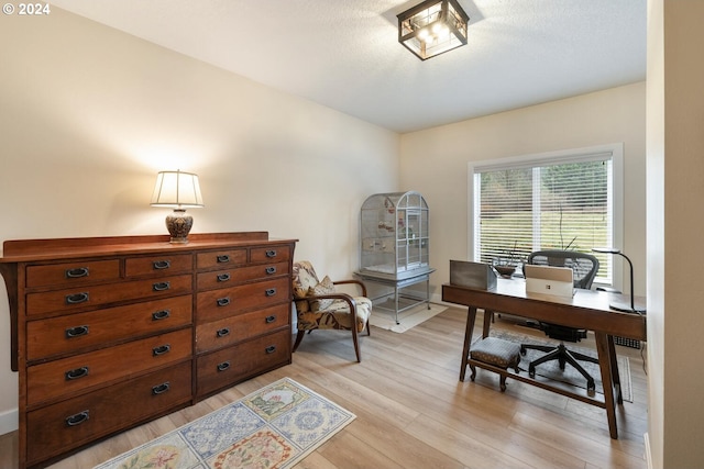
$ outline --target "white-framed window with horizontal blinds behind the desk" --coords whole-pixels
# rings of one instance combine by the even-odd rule
[[[517,263],[540,249],[620,245],[623,145],[470,164],[470,257]],[[595,254],[612,284],[613,256]]]

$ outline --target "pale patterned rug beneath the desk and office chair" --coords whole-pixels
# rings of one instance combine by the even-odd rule
[[[479,334],[481,336],[481,333]],[[553,340],[549,337],[534,337],[527,334],[520,334],[504,330],[492,330],[490,335],[504,338],[506,340],[515,342],[517,344],[540,344],[540,345],[558,345],[558,340]],[[591,357],[596,357],[596,349],[586,348],[575,346],[574,344],[566,344],[566,347],[570,350],[579,351],[584,355],[588,355]],[[618,350],[616,350],[618,353]],[[520,357],[520,364],[518,368],[520,372],[528,373],[528,364],[531,360],[535,360],[541,357],[544,353],[540,350],[527,349],[526,355]],[[618,376],[620,377],[620,389],[622,389],[622,398],[624,401],[634,402],[632,398],[632,389],[630,381],[630,360],[628,357],[624,357],[618,355],[616,357],[616,362],[618,365]],[[596,392],[600,394],[604,393],[604,386],[602,384],[602,372],[596,364],[592,364],[590,361],[580,361],[580,364],[584,367],[584,369],[594,378],[594,383],[596,386]],[[538,365],[536,367],[536,375],[540,375],[541,377],[549,378],[556,381],[561,381],[578,388],[586,389],[586,379],[580,372],[572,368],[569,364],[565,365],[564,370],[560,369],[557,360],[547,361],[544,364]]]

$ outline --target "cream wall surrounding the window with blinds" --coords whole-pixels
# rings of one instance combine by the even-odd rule
[[[400,186],[430,208],[436,298],[450,259],[468,259],[468,163],[624,143],[624,244],[646,294],[646,85],[634,83],[402,135]],[[628,269],[622,284],[628,288]]]

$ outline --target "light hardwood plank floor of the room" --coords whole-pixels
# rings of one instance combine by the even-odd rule
[[[646,468],[641,350],[616,347],[630,358],[634,402],[617,410],[619,438],[612,439],[603,409],[510,379],[501,393],[498,377],[484,370],[475,382],[469,372],[468,381],[459,382],[465,317],[464,309],[450,308],[404,334],[372,327],[371,337],[361,337],[361,364],[354,361],[349,335],[315,332],[294,354],[293,365],[50,468],[92,468],[283,377],[356,414],[297,468]],[[506,319],[494,326],[516,327]],[[0,436],[0,468],[15,466],[16,432]]]

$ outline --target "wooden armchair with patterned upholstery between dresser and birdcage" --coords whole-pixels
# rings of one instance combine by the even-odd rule
[[[354,283],[361,297],[336,291],[336,284]],[[306,332],[314,330],[341,330],[352,332],[356,360],[362,361],[358,334],[366,328],[371,335],[369,319],[372,301],[366,298],[366,288],[359,280],[332,281],[328,276],[318,279],[312,265],[307,260],[294,263],[294,301],[298,319],[298,335],[294,351],[300,345]]]

